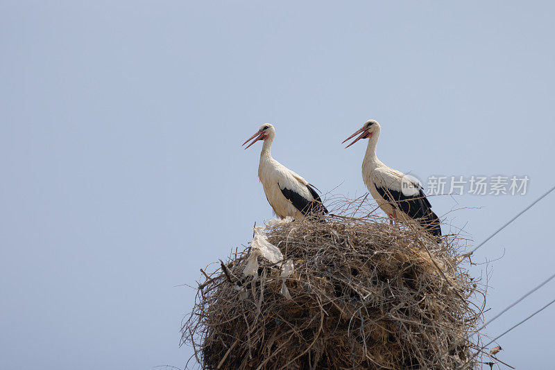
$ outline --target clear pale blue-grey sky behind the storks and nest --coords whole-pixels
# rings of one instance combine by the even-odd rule
[[[524,196],[432,197],[476,243],[555,184],[549,1],[0,1],[0,368],[183,367],[199,268],[271,218],[273,155],[322,191],[361,195],[378,156],[420,179],[528,175]],[[488,317],[554,270],[549,195],[475,256]],[[480,207],[449,213],[459,207]],[[447,214],[449,213],[449,214]],[[449,227],[444,227],[449,232]],[[484,265],[473,273],[479,276]],[[555,283],[497,319],[502,333]],[[555,306],[499,358],[552,367]]]

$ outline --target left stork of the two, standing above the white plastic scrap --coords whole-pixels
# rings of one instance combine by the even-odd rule
[[[309,215],[323,215],[327,209],[313,186],[289,168],[272,158],[270,148],[275,137],[273,125],[266,123],[243,143],[253,140],[246,148],[259,140],[264,141],[258,165],[258,178],[264,187],[268,203],[279,218],[291,216],[296,219]],[[245,149],[246,149],[245,148]]]

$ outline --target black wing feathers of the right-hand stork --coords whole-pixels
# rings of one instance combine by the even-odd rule
[[[441,236],[441,226],[439,218],[432,211],[432,204],[429,204],[426,195],[419,189],[415,195],[404,195],[402,191],[391,190],[385,186],[377,186],[379,195],[387,200],[396,209],[403,211],[410,218],[418,220],[422,227],[427,229],[433,236]]]

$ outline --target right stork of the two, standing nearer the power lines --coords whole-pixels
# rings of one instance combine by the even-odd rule
[[[376,156],[377,139],[381,127],[377,121],[370,119],[354,134],[343,141],[360,136],[345,148],[360,139],[369,139],[366,155],[362,161],[362,179],[379,207],[393,220],[411,222],[417,220],[433,236],[441,236],[439,218],[432,211],[432,205],[422,191],[422,186],[398,170],[389,168]]]

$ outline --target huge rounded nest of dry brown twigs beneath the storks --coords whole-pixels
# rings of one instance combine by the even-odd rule
[[[456,369],[483,307],[457,242],[373,214],[270,222],[199,285],[182,342],[203,369]]]

